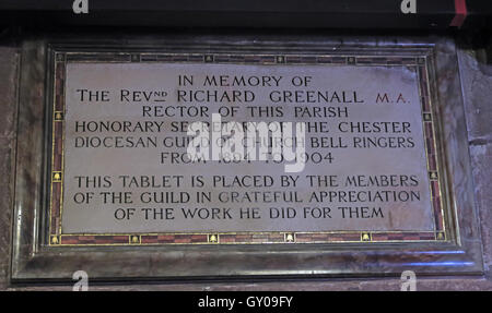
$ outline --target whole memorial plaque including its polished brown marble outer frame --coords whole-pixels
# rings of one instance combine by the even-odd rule
[[[482,272],[453,43],[243,39],[26,43],[12,281]]]

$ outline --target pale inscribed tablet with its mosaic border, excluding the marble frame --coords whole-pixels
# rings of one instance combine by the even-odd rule
[[[50,245],[446,239],[425,57],[60,51],[54,72]],[[223,158],[233,137],[259,151]]]

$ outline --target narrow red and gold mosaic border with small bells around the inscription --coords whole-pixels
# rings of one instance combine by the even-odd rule
[[[52,104],[52,155],[49,201],[50,246],[79,245],[161,245],[161,244],[261,244],[337,242],[434,242],[446,241],[443,208],[443,178],[436,148],[435,115],[429,80],[430,56],[388,57],[352,55],[241,55],[241,53],[156,53],[156,52],[55,52]],[[242,64],[349,64],[414,67],[419,77],[424,146],[430,179],[435,231],[326,231],[326,232],[166,232],[166,233],[61,233],[63,195],[65,83],[67,62],[184,62]]]

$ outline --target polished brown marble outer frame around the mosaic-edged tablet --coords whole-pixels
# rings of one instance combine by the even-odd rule
[[[372,43],[372,44],[371,44]],[[464,275],[482,273],[465,113],[455,45],[450,39],[415,38],[129,38],[106,45],[101,38],[39,39],[23,45],[14,201],[12,282],[69,281],[87,272],[92,281],[280,279],[331,276]],[[423,56],[430,69],[430,100],[435,105],[437,156],[443,165],[446,224],[443,240],[429,242],[54,246],[48,234],[55,51],[253,52],[284,55],[371,52]],[[436,238],[435,238],[436,239]],[[126,238],[126,240],[129,240]],[[141,237],[140,237],[141,242]],[[266,253],[266,251],[268,253]]]

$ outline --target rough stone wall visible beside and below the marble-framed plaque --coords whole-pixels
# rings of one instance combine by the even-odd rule
[[[481,277],[418,277],[418,290],[492,290],[492,65],[481,50],[459,50],[460,80],[467,115],[475,201],[480,219],[485,274]],[[0,46],[0,290],[66,287],[9,286],[15,171],[15,129],[20,51]],[[282,282],[173,284],[91,287],[92,290],[400,290],[398,278],[324,279]]]

